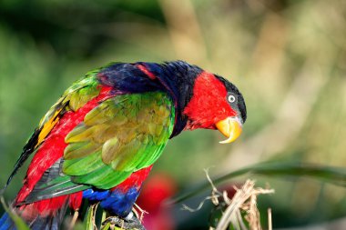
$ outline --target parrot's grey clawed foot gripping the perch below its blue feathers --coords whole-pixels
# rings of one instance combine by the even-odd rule
[[[109,216],[102,225],[107,225],[107,223],[116,225],[126,230],[146,230],[146,228],[142,225],[142,223],[140,223],[136,215],[133,215],[132,212],[129,213],[124,219],[117,216]]]

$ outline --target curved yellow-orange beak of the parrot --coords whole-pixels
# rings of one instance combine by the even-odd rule
[[[227,140],[220,141],[220,144],[228,144],[234,142],[239,137],[242,131],[241,122],[239,121],[239,118],[235,116],[229,116],[225,120],[219,121],[216,126],[221,134],[228,137]]]

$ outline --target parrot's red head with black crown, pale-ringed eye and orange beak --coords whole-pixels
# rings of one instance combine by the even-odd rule
[[[238,88],[219,75],[201,72],[195,80],[192,97],[184,109],[188,116],[185,129],[219,129],[230,143],[241,134],[247,112]]]

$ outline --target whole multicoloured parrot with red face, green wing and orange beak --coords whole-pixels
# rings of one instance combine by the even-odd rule
[[[61,228],[66,210],[78,211],[84,201],[136,228],[133,205],[169,139],[201,128],[219,130],[226,136],[220,143],[231,143],[246,119],[239,89],[198,65],[110,63],[86,73],[48,110],[4,190],[33,155],[10,206],[30,229]],[[15,229],[8,213],[0,219],[5,229]]]

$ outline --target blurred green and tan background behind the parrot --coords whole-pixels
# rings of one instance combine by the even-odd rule
[[[232,145],[219,145],[218,132],[179,135],[153,174],[188,189],[206,181],[202,169],[212,165],[210,175],[268,160],[346,165],[346,1],[2,0],[0,185],[42,115],[87,71],[111,61],[175,59],[238,85],[249,118]],[[346,229],[345,188],[251,178],[276,190],[259,199],[262,215],[271,207],[274,228]],[[187,216],[179,228],[193,228],[196,219]]]

